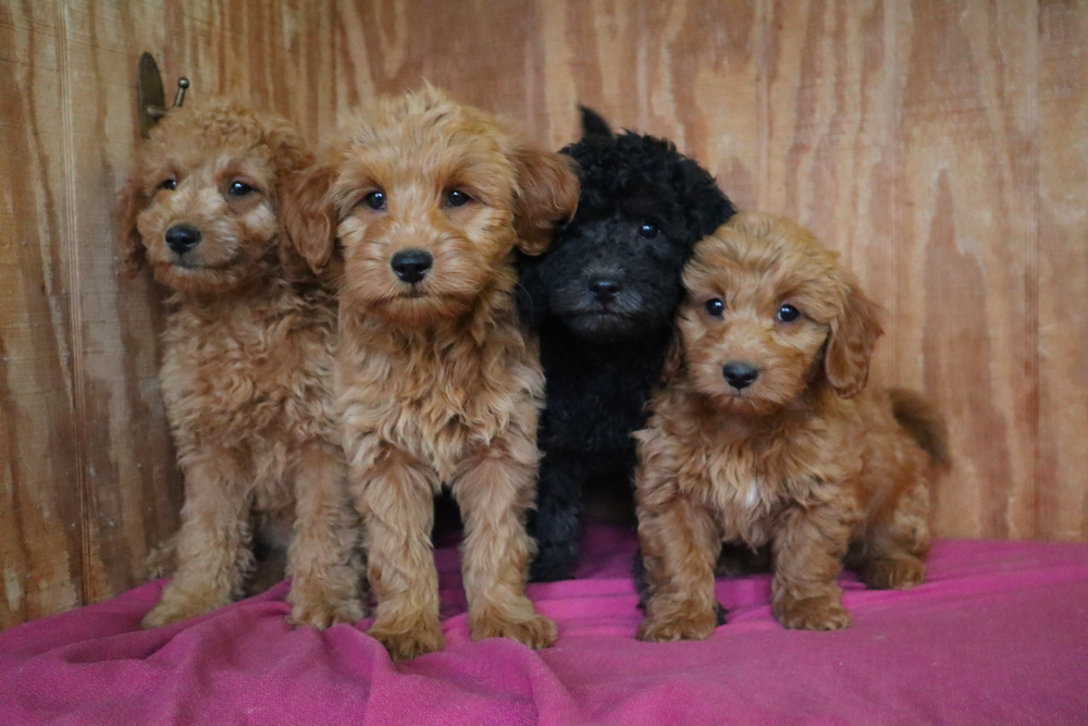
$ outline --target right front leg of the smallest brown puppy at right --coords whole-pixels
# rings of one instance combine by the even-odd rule
[[[775,536],[771,608],[794,630],[839,630],[850,625],[836,579],[856,517],[841,505],[787,509]]]

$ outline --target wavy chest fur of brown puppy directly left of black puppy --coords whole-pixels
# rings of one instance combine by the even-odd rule
[[[512,316],[409,335],[354,320],[338,357],[353,466],[373,465],[392,445],[450,482],[467,457],[499,441],[526,448],[519,458],[535,456],[544,377],[535,341]]]

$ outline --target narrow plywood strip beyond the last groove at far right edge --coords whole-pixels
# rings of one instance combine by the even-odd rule
[[[1088,2],[1039,9],[1036,533],[1088,538]]]

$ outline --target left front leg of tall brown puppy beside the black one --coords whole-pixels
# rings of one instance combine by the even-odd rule
[[[392,446],[373,467],[353,467],[349,476],[378,600],[370,635],[394,661],[442,650],[446,639],[438,623],[438,573],[431,549],[437,476]]]

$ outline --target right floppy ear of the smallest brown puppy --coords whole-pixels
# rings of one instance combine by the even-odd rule
[[[856,395],[869,378],[873,346],[883,333],[877,320],[879,308],[858,290],[848,284],[846,305],[831,321],[824,370],[827,380],[843,398]]]

